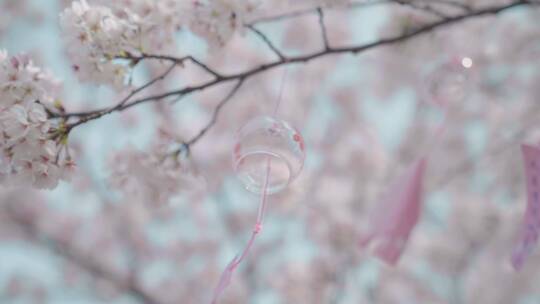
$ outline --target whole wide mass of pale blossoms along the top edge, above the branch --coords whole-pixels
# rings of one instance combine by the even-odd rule
[[[141,54],[175,54],[187,29],[220,49],[241,30],[256,0],[73,1],[60,15],[67,53],[79,79],[121,88],[126,61]],[[137,60],[132,60],[136,64]]]

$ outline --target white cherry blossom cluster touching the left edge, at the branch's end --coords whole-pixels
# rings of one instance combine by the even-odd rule
[[[26,56],[0,51],[0,180],[52,189],[75,163],[67,133],[47,117],[58,82]]]

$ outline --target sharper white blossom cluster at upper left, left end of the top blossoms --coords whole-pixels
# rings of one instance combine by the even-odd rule
[[[124,84],[127,68],[115,58],[140,48],[136,15],[116,16],[111,8],[74,1],[60,14],[60,26],[73,70],[83,82]]]

